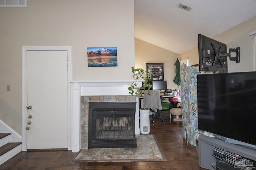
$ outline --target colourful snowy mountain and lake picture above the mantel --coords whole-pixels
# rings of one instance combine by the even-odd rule
[[[88,67],[117,66],[117,47],[88,47]]]

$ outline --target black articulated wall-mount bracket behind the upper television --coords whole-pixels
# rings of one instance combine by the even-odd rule
[[[220,53],[221,49],[223,46],[220,46],[220,49],[216,49],[214,43],[211,43],[212,47],[214,48],[214,53],[215,53],[215,57],[214,57],[214,62],[212,63],[212,65],[214,66],[216,61],[219,61],[220,64],[223,66],[222,61],[220,60],[220,57],[229,57],[230,61],[236,61],[236,63],[240,63],[240,47],[236,47],[235,49],[229,49],[229,53]],[[236,53],[236,57],[231,57],[232,53]]]

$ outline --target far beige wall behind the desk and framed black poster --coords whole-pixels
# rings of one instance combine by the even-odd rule
[[[167,88],[178,89],[173,82],[176,59],[179,55],[135,38],[135,67],[146,70],[146,63],[164,63],[164,80]]]

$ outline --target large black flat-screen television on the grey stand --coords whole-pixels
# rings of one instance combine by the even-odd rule
[[[256,145],[256,72],[198,74],[198,129]]]

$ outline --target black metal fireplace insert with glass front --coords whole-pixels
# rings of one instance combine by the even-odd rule
[[[89,148],[137,147],[135,102],[89,102]]]

